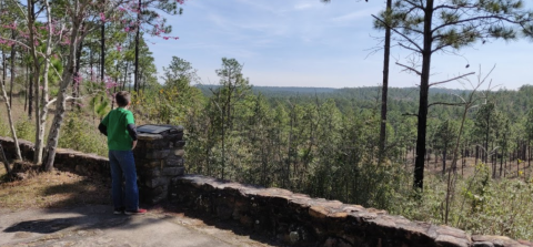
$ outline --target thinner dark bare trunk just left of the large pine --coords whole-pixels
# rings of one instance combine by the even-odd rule
[[[392,0],[386,0],[386,11],[390,11]],[[380,123],[380,146],[379,146],[379,163],[383,162],[385,155],[386,142],[386,102],[389,93],[389,61],[391,53],[391,28],[385,28],[385,45],[383,51],[383,85],[381,89],[381,123]]]

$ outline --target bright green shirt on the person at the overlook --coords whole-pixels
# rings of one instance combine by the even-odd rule
[[[110,151],[129,151],[132,147],[133,140],[128,133],[128,124],[135,124],[133,113],[118,107],[108,113],[102,120],[102,124],[108,128],[108,147]]]

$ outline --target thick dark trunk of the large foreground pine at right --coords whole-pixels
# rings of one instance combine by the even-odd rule
[[[432,50],[433,0],[428,0],[424,9],[424,47],[422,51],[422,74],[420,76],[419,123],[416,133],[416,157],[414,162],[414,188],[424,187],[424,154],[428,128],[428,97],[430,91],[430,69]]]

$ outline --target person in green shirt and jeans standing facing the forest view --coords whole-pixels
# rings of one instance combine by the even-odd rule
[[[115,215],[145,214],[147,209],[139,208],[139,188],[135,161],[133,159],[137,128],[133,113],[128,110],[131,104],[130,93],[128,91],[118,92],[115,101],[119,107],[109,112],[98,125],[98,130],[108,136],[113,213]]]

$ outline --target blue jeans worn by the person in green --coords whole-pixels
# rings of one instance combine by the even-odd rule
[[[139,188],[137,187],[135,161],[132,151],[109,151],[111,164],[114,208],[137,210],[139,208]],[[124,187],[122,182],[125,181]]]

